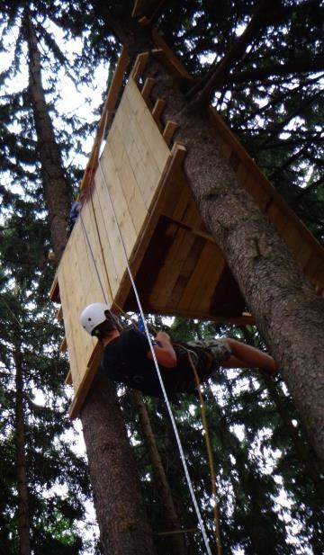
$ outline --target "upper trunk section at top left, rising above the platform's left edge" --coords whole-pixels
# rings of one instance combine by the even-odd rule
[[[57,262],[67,243],[67,214],[71,188],[65,177],[40,75],[40,52],[32,24],[25,17],[29,53],[29,93],[39,147],[44,196],[49,210],[50,237]]]

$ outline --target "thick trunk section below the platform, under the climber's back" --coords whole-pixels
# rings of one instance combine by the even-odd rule
[[[139,479],[112,382],[94,379],[81,420],[103,551],[154,555]]]

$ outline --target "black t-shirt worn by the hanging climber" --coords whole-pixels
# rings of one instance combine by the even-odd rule
[[[195,388],[193,368],[187,354],[184,349],[176,346],[174,349],[175,368],[158,365],[166,393],[171,397]],[[128,329],[104,348],[102,366],[112,380],[140,389],[144,394],[163,398],[157,369],[154,362],[147,358],[148,351],[147,337],[135,329]]]

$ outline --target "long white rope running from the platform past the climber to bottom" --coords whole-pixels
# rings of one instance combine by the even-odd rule
[[[100,159],[99,159],[99,168],[100,168],[101,174],[103,175],[103,168],[102,168]],[[208,541],[207,533],[206,533],[204,524],[203,524],[203,522],[202,522],[202,515],[201,515],[200,510],[199,510],[199,506],[198,506],[198,503],[197,503],[197,499],[196,499],[196,497],[195,497],[195,495],[194,495],[193,483],[192,483],[192,481],[191,481],[191,479],[190,479],[189,470],[188,470],[188,467],[187,467],[187,464],[186,464],[186,461],[185,461],[185,458],[184,458],[184,450],[183,450],[183,447],[182,447],[182,444],[181,444],[181,440],[180,440],[180,436],[179,436],[179,433],[178,433],[178,431],[177,431],[177,427],[176,427],[176,424],[175,424],[175,417],[173,416],[172,408],[171,408],[170,403],[169,403],[169,400],[168,400],[168,398],[167,398],[166,389],[165,389],[165,386],[164,386],[164,383],[163,383],[163,380],[162,380],[161,372],[160,372],[159,367],[158,367],[158,364],[157,364],[157,357],[156,357],[156,354],[155,354],[155,352],[154,352],[152,340],[151,340],[151,338],[150,338],[150,336],[149,336],[149,333],[148,333],[148,326],[147,326],[147,323],[146,323],[146,319],[145,319],[145,316],[144,316],[144,312],[143,312],[143,309],[142,309],[142,306],[141,306],[141,302],[140,302],[140,300],[139,300],[139,292],[138,292],[138,290],[137,290],[136,284],[135,284],[135,282],[134,282],[134,279],[133,279],[133,276],[132,276],[132,273],[131,273],[131,270],[130,270],[130,264],[129,264],[129,262],[128,262],[126,247],[125,247],[123,238],[122,238],[122,236],[121,236],[121,229],[120,229],[120,227],[119,227],[119,225],[118,225],[118,219],[117,219],[116,212],[115,212],[114,207],[113,207],[113,204],[112,204],[112,199],[111,199],[111,195],[110,195],[110,192],[109,192],[109,187],[108,187],[108,184],[107,184],[107,182],[106,182],[106,179],[105,179],[104,175],[103,175],[103,182],[104,182],[104,184],[105,184],[105,186],[106,186],[106,188],[107,188],[109,201],[110,201],[110,204],[111,204],[111,207],[112,207],[113,217],[114,217],[114,220],[115,220],[115,222],[116,222],[116,227],[117,227],[117,229],[118,229],[118,234],[119,234],[119,237],[120,237],[120,240],[121,240],[121,246],[122,246],[123,254],[124,254],[125,260],[126,260],[127,271],[128,271],[128,273],[129,273],[129,276],[130,276],[130,282],[131,282],[133,291],[134,291],[134,293],[135,293],[135,297],[136,297],[136,300],[137,300],[137,303],[138,303],[138,307],[139,307],[139,313],[140,313],[140,316],[141,316],[142,321],[143,321],[143,324],[144,324],[146,336],[147,336],[147,338],[148,338],[148,345],[149,345],[149,348],[150,348],[150,350],[151,350],[152,357],[153,357],[153,361],[154,361],[154,364],[155,364],[155,367],[156,367],[156,370],[157,370],[157,377],[158,377],[158,380],[159,380],[159,382],[160,382],[160,386],[161,386],[161,389],[162,389],[162,392],[163,392],[163,397],[165,398],[165,401],[166,401],[167,411],[168,411],[168,413],[169,413],[169,416],[170,416],[170,419],[171,419],[171,423],[172,423],[172,426],[173,426],[173,429],[174,429],[176,443],[177,443],[177,445],[178,445],[178,449],[179,449],[179,452],[180,452],[181,461],[182,461],[183,466],[184,466],[184,475],[185,475],[185,478],[186,478],[186,481],[187,481],[187,484],[188,484],[188,488],[189,488],[189,490],[190,490],[191,497],[192,497],[192,499],[193,499],[193,506],[194,506],[194,509],[195,509],[195,512],[196,512],[196,515],[197,515],[197,518],[198,518],[198,522],[199,522],[200,528],[201,528],[202,538],[203,538],[203,541],[204,541],[204,544],[205,544],[205,548],[206,548],[206,551],[207,551],[208,555],[211,555],[211,548],[210,548],[210,546],[209,546],[209,541]]]

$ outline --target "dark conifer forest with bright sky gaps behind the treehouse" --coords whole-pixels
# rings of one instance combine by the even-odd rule
[[[323,3],[151,1],[143,4],[149,24],[140,33],[130,19],[132,2],[0,4],[0,553],[108,553],[104,523],[101,542],[95,534],[88,539],[82,526],[91,487],[67,417],[68,362],[58,354],[62,329],[48,299],[55,272],[48,254],[54,249],[59,259],[66,244],[68,210],[121,44],[134,58],[149,24],[156,25],[193,75],[200,102],[212,101],[323,243]],[[67,108],[67,81],[84,96],[82,112],[76,98]],[[102,94],[97,102],[94,90]],[[194,101],[194,91],[188,98]],[[165,326],[160,318],[154,323]],[[256,327],[176,319],[171,334],[177,340],[227,334],[265,348]],[[320,462],[284,381],[256,370],[220,371],[204,396],[225,552],[320,554]],[[177,522],[191,530],[180,543],[157,535],[170,528],[170,518],[161,511],[139,399],[121,389],[118,403],[157,552],[203,552],[163,403],[149,399],[146,410]],[[197,400],[184,398],[175,417],[213,546]],[[122,465],[118,471],[122,478]]]

